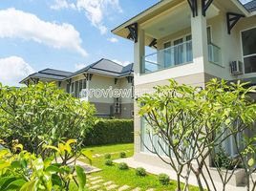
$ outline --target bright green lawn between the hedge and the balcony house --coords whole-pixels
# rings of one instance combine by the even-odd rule
[[[176,181],[171,180],[168,186],[163,186],[160,184],[158,177],[155,175],[147,175],[144,178],[141,178],[136,175],[134,169],[129,169],[125,171],[121,171],[118,169],[118,164],[114,164],[113,166],[106,166],[104,164],[104,154],[107,153],[117,153],[112,155],[112,159],[119,159],[119,152],[127,151],[127,157],[132,157],[134,152],[134,144],[117,144],[117,145],[107,145],[107,146],[96,146],[89,147],[90,150],[93,151],[93,154],[102,155],[102,157],[95,158],[93,160],[93,166],[96,166],[102,171],[93,173],[92,176],[100,176],[103,180],[112,180],[118,185],[129,185],[132,187],[140,187],[141,190],[146,190],[148,188],[155,188],[155,190],[164,191],[164,190],[175,190],[176,189]],[[190,187],[191,191],[198,190],[195,187]]]

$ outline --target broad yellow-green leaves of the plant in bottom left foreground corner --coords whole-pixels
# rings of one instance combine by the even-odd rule
[[[84,190],[84,169],[65,161],[65,156],[72,156],[72,163],[75,164],[77,157],[85,153],[78,154],[74,151],[75,147],[76,140],[73,139],[60,142],[58,147],[44,145],[44,149],[54,151],[54,155],[47,159],[23,150],[21,144],[14,144],[12,152],[9,149],[1,150],[0,190],[68,190],[71,181],[75,181],[80,191]]]

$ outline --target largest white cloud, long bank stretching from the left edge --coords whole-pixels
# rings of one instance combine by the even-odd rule
[[[73,25],[46,22],[36,15],[15,9],[0,11],[0,38],[22,38],[55,49],[68,49],[86,56],[82,40]]]

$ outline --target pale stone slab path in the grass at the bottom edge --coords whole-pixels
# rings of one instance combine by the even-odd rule
[[[117,185],[113,181],[103,180],[100,176],[87,175],[87,187],[91,191],[140,191],[141,188],[130,185]],[[154,191],[154,188],[149,188],[146,191]]]

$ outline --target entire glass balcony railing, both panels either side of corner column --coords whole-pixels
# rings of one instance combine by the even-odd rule
[[[221,49],[214,44],[208,45],[208,60],[222,66]],[[193,62],[193,50],[190,40],[143,56],[141,74],[154,73],[191,62]]]

